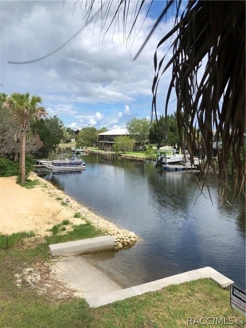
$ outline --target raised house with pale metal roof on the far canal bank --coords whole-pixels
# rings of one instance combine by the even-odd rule
[[[102,132],[97,134],[97,146],[101,150],[112,151],[112,147],[115,143],[115,138],[123,135],[129,135],[127,129],[113,129],[110,131]],[[135,142],[133,150],[141,150],[142,146],[140,142]]]

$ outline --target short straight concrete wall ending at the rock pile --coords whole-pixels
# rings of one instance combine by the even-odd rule
[[[113,249],[114,237],[110,235],[49,245],[50,253],[53,256],[88,254]]]

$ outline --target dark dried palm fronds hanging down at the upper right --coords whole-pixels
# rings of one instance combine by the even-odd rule
[[[242,156],[245,138],[245,2],[190,1],[179,22],[162,38],[157,49],[170,36],[175,39],[168,64],[162,67],[163,57],[157,60],[157,50],[154,55],[152,112],[156,113],[160,77],[172,67],[165,116],[174,90],[179,131],[185,131],[183,152],[188,148],[193,158],[199,143],[203,156],[207,157],[202,176],[205,178],[210,168],[216,172],[218,167],[219,191],[223,195],[228,191],[227,167],[232,156],[235,188],[241,181],[239,190],[245,193],[245,158]],[[198,136],[201,137],[199,142]],[[214,158],[214,142],[220,146],[217,147],[217,159]]]

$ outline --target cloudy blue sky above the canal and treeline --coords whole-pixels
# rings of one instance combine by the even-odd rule
[[[166,1],[154,1],[143,25],[146,12],[140,14],[130,42],[124,42],[121,26],[101,37],[98,19],[48,58],[32,64],[7,64],[8,60],[25,61],[44,56],[66,42],[84,24],[81,14],[84,8],[77,6],[73,12],[73,4],[70,1],[64,5],[63,1],[1,2],[1,91],[42,96],[49,115],[57,114],[73,129],[88,124],[108,129],[125,127],[133,117],[150,117],[153,55],[158,41],[173,26],[170,13],[167,24],[163,19],[140,56],[135,61],[132,57]],[[169,46],[170,42],[158,51],[158,58]],[[164,111],[170,77],[169,70],[159,86],[158,114]],[[170,105],[169,113],[174,110],[175,102]]]

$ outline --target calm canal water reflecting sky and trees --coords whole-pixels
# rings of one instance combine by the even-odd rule
[[[71,156],[71,149],[61,151]],[[134,285],[209,266],[245,288],[244,199],[220,208],[213,179],[212,204],[206,190],[197,197],[188,172],[166,172],[151,161],[113,155],[80,158],[85,171],[40,176],[139,236],[130,249],[92,255],[101,267],[114,268]]]

